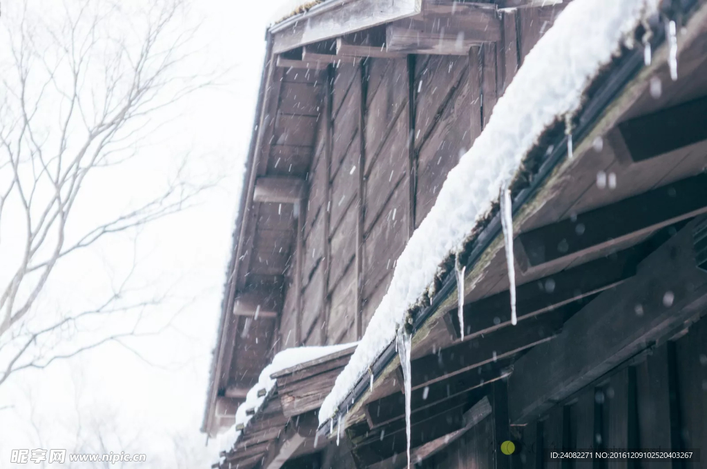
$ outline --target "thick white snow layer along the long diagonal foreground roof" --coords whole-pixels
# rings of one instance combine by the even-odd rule
[[[431,287],[438,266],[459,250],[520,170],[542,133],[578,111],[583,94],[660,0],[575,0],[525,57],[472,148],[448,174],[430,213],[400,254],[392,282],[351,361],[320,409],[320,425],[395,340],[404,315]]]

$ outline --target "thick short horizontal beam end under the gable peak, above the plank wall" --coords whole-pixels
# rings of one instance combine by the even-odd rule
[[[467,55],[472,46],[501,40],[495,6],[455,4],[455,13],[426,14],[387,25],[389,51],[410,54]]]

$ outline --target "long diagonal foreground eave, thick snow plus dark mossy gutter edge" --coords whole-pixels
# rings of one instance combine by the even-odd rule
[[[418,330],[437,311],[439,305],[455,292],[453,262],[450,262],[453,259],[453,254],[455,252],[461,254],[464,265],[467,266],[467,272],[469,272],[471,270],[469,267],[474,266],[474,263],[481,258],[491,243],[498,239],[501,234],[501,222],[497,215],[498,194],[503,183],[507,183],[509,180],[513,181],[511,189],[513,189],[513,211],[515,213],[524,203],[530,201],[532,196],[537,194],[554,168],[560,162],[566,161],[568,138],[562,132],[565,118],[567,116],[573,117],[576,126],[571,129],[571,136],[577,144],[588,135],[597,118],[617,96],[618,91],[641,69],[643,66],[642,50],[633,49],[620,59],[617,58],[617,54],[620,52],[622,44],[626,44],[624,40],[631,38],[636,28],[640,27],[641,21],[646,16],[654,16],[658,12],[660,2],[658,0],[626,0],[620,3],[620,5],[619,2],[612,5],[609,4],[609,1],[575,0],[559,16],[554,27],[539,40],[536,47],[527,55],[524,65],[519,69],[513,83],[508,86],[506,94],[501,97],[494,108],[489,125],[474,142],[472,149],[462,157],[460,164],[450,172],[430,215],[416,230],[397,262],[398,276],[402,277],[405,272],[412,272],[422,275],[424,278],[417,280],[416,290],[408,287],[402,295],[397,292],[397,297],[391,298],[391,296],[396,296],[396,292],[391,295],[391,290],[395,287],[396,272],[394,272],[394,283],[368,327],[368,331],[380,331],[381,328],[386,327],[388,330],[377,333],[377,336],[370,336],[367,332],[363,337],[349,366],[339,375],[332,393],[327,396],[322,405],[320,431],[326,432],[329,429],[327,422],[330,419],[336,419],[337,414],[344,415],[349,408],[356,406],[361,396],[366,393],[370,372],[373,372],[373,376],[378,377],[390,369],[390,365],[397,359],[394,345],[395,327],[402,322],[404,316],[411,314],[414,328]],[[568,55],[576,52],[571,44],[573,35],[597,37],[592,35],[591,30],[596,21],[592,23],[590,16],[582,18],[582,15],[586,13],[583,10],[592,11],[597,6],[609,9],[609,14],[614,13],[614,16],[609,18],[598,19],[605,20],[607,23],[613,21],[611,25],[604,25],[604,34],[611,40],[610,44],[604,44],[605,50],[590,51],[589,64],[580,64],[585,67],[582,71],[583,80],[571,83],[567,87],[570,89],[567,90],[566,95],[557,97],[558,101],[563,99],[565,101],[551,103],[548,106],[550,109],[546,109],[547,112],[539,113],[542,114],[539,117],[532,113],[515,117],[508,114],[513,111],[514,102],[529,101],[526,108],[533,109],[540,104],[533,102],[535,97],[547,98],[553,95],[553,88],[558,87],[557,80],[544,81],[541,79],[543,78],[542,73],[539,73],[539,70],[542,71],[542,69],[549,69],[550,73],[556,72],[551,66],[546,67],[546,61],[549,64],[557,65],[558,61],[567,60],[568,68],[571,66],[572,69],[575,69],[578,66],[570,60],[572,56]],[[632,7],[633,10],[631,10]],[[687,8],[687,6],[684,7]],[[626,14],[627,9],[631,14]],[[587,24],[582,24],[581,19],[584,19]],[[658,46],[664,36],[662,25],[659,26],[654,30],[653,47]],[[610,31],[612,29],[613,32]],[[577,40],[576,37],[574,39]],[[586,41],[585,38],[580,40]],[[561,44],[560,42],[570,42],[570,44]],[[563,57],[563,54],[567,57]],[[527,88],[530,87],[534,87],[536,90],[528,95]],[[587,102],[583,102],[585,92],[590,88],[592,89],[592,97]],[[539,124],[539,128],[536,124]],[[516,140],[511,139],[511,141],[515,144],[520,139],[524,144],[516,145],[516,148],[502,148],[501,153],[505,150],[508,160],[489,162],[489,159],[492,159],[496,153],[493,143],[495,142],[498,147],[503,147],[506,143],[503,137],[508,136],[509,128],[510,133],[513,133],[514,126],[518,126],[515,133],[525,134],[525,138],[520,139],[515,136]],[[549,143],[552,145],[550,146]],[[546,151],[546,148],[554,148],[554,150]],[[485,159],[479,165],[481,158]],[[533,164],[527,164],[530,160]],[[493,169],[488,170],[483,167],[484,165],[486,167],[493,166]],[[530,172],[530,167],[539,167],[539,169]],[[462,179],[464,186],[461,194],[463,194],[464,188],[474,186],[474,179],[477,179],[477,184],[488,186],[481,203],[477,203],[477,206],[473,208],[474,222],[460,228],[460,232],[448,237],[452,239],[448,239],[447,245],[442,247],[446,249],[433,246],[431,249],[437,248],[440,253],[435,266],[436,271],[430,274],[431,267],[424,266],[426,272],[420,273],[411,268],[411,262],[408,259],[404,259],[406,251],[411,245],[414,245],[415,241],[417,244],[422,244],[420,239],[416,240],[415,235],[418,235],[417,238],[423,237],[425,231],[431,230],[431,227],[441,227],[440,232],[457,229],[448,226],[449,223],[445,223],[443,220],[448,218],[453,221],[457,218],[457,214],[453,213],[454,210],[449,213],[445,202],[449,203],[454,199],[454,192],[460,190],[455,184],[459,184]],[[530,184],[524,182],[526,179],[530,179]],[[522,186],[525,187],[522,188]],[[465,215],[469,215],[469,213]],[[428,219],[432,221],[428,222]],[[464,218],[460,219],[464,220]],[[425,228],[426,225],[431,225],[431,227]],[[419,248],[419,246],[416,247]],[[450,263],[452,264],[451,268]],[[414,284],[414,280],[409,280],[408,283]],[[397,300],[397,302],[393,300]],[[387,317],[381,318],[380,311],[386,310],[392,312],[382,313]],[[377,318],[378,321],[376,321]]]

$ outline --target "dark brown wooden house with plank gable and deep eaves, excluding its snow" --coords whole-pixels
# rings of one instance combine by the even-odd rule
[[[448,173],[571,3],[326,0],[271,26],[204,432],[235,425],[276,352],[366,335]],[[498,210],[465,244],[464,338],[449,259],[411,311],[413,463],[699,465],[544,451],[707,449],[707,6],[661,8],[510,187],[518,324]],[[395,344],[317,415],[351,351],[274,374],[216,466],[403,467]]]

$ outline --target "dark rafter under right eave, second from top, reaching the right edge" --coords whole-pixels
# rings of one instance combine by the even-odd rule
[[[581,256],[707,213],[707,174],[682,179],[552,225],[514,243],[521,268]]]

